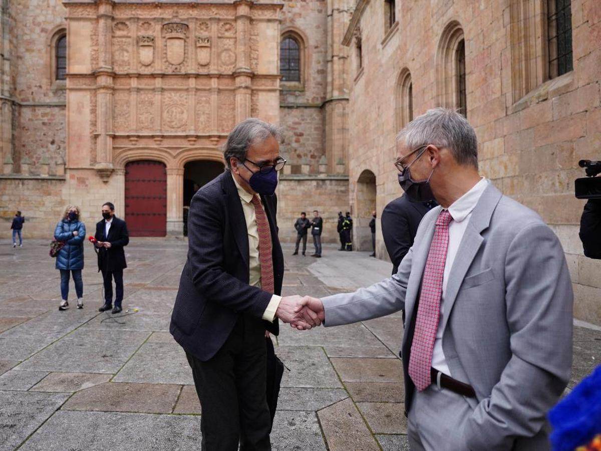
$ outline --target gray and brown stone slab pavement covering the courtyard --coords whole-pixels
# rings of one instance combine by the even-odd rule
[[[85,308],[58,311],[47,242],[0,243],[0,451],[198,450],[200,405],[168,333],[184,241],[133,239],[124,311],[99,313],[102,283],[85,249]],[[320,260],[284,247],[284,294],[325,296],[389,275],[368,253],[326,245]],[[133,309],[138,308],[137,313]],[[403,450],[400,314],[300,333],[284,326],[278,450]],[[575,328],[573,387],[601,358],[601,328]]]

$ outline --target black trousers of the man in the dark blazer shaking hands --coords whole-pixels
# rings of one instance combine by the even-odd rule
[[[203,451],[269,451],[265,327],[240,314],[221,349],[207,361],[186,353],[202,410]]]

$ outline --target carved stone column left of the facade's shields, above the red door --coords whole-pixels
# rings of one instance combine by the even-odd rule
[[[112,70],[112,0],[98,4],[99,68],[96,71],[96,165],[94,168],[103,182],[113,171],[113,78]]]

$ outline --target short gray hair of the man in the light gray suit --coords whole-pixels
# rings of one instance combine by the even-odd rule
[[[468,120],[457,111],[433,108],[408,123],[397,135],[409,150],[434,144],[447,147],[460,165],[478,169],[478,138]]]

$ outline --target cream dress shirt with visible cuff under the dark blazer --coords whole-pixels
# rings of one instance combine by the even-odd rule
[[[248,230],[248,273],[249,285],[261,288],[261,263],[259,262],[259,234],[257,230],[257,218],[255,218],[255,206],[252,204],[252,194],[246,191],[238,181],[234,174],[231,176],[236,183],[236,189],[242,203],[244,218],[246,219],[246,229]],[[261,197],[259,196],[261,201]],[[263,201],[261,201],[263,205]],[[267,213],[266,213],[267,214]],[[263,319],[272,322],[275,319],[275,311],[278,310],[281,296],[271,296],[271,301],[267,304],[267,308],[263,313]]]

